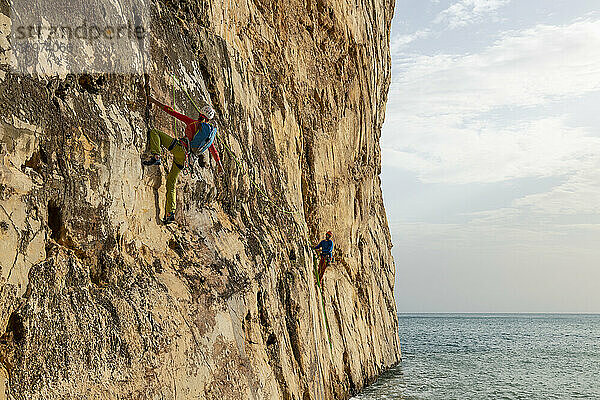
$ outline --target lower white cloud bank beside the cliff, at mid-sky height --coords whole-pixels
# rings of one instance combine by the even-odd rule
[[[436,121],[416,117],[397,124],[397,132],[404,133],[393,140],[386,135],[384,163],[415,171],[423,182],[466,184],[566,175],[597,164],[600,157],[600,138],[569,127],[564,118],[508,127]]]

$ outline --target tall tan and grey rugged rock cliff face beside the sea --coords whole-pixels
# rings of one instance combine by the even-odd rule
[[[392,0],[153,0],[147,75],[52,77],[10,72],[0,5],[0,398],[345,399],[399,361]],[[174,128],[147,92],[197,115],[172,74],[225,168],[182,174],[165,227],[167,170],[140,159]]]

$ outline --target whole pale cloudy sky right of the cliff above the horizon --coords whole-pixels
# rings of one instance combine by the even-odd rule
[[[399,312],[600,312],[600,3],[397,0]]]

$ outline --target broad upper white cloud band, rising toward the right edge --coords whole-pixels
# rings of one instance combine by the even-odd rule
[[[507,32],[477,54],[408,55],[394,62],[391,100],[413,110],[539,105],[600,90],[600,20]]]

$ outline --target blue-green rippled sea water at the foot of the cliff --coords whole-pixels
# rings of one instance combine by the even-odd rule
[[[398,319],[402,363],[354,399],[600,399],[600,315]]]

